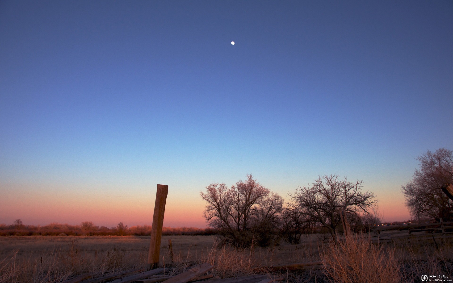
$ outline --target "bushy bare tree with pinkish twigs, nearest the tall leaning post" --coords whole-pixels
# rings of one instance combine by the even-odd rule
[[[283,209],[283,199],[262,186],[252,175],[228,188],[225,183],[212,183],[200,196],[207,202],[203,216],[209,226],[219,230],[227,243],[245,247],[252,242],[266,245],[259,233],[274,227]]]

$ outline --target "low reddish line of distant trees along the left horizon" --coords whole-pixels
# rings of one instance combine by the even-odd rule
[[[211,228],[195,227],[163,227],[162,235],[213,235]],[[24,225],[20,219],[11,225],[0,224],[0,236],[126,236],[151,235],[151,225],[128,227],[122,222],[116,227],[96,226],[92,221],[84,221],[80,225],[50,223],[48,225]]]

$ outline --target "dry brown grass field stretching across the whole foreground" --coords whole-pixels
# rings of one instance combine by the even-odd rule
[[[299,245],[235,250],[219,247],[216,236],[163,236],[160,265],[165,274],[210,262],[222,278],[271,272],[268,266],[322,261],[324,268],[277,271],[286,282],[419,282],[421,274],[452,278],[452,243],[436,248],[426,241],[405,246],[372,245],[366,236],[323,243],[323,235],[303,235]],[[168,240],[173,244],[173,261]],[[94,276],[146,268],[149,236],[0,237],[0,282],[62,282],[77,274]],[[258,267],[264,267],[259,271]],[[275,273],[275,271],[272,271]]]

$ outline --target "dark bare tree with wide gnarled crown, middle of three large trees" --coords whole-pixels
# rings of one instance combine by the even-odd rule
[[[294,194],[289,194],[291,208],[326,227],[336,240],[342,227],[342,215],[347,219],[357,218],[379,202],[373,193],[362,192],[362,184],[362,181],[349,182],[347,178],[340,180],[338,175],[319,177],[312,187],[299,186]]]

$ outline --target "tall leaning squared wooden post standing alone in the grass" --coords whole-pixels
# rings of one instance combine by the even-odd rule
[[[165,202],[169,186],[157,185],[156,203],[154,204],[153,226],[151,227],[151,242],[149,244],[148,264],[149,269],[159,267],[160,240],[162,239],[162,226],[164,225]]]

